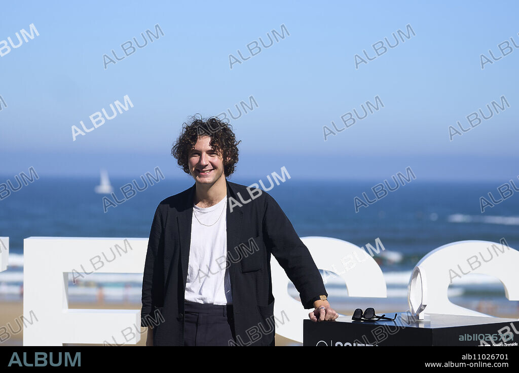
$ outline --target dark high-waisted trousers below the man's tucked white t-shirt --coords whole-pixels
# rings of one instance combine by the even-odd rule
[[[184,346],[234,344],[233,306],[184,301]]]

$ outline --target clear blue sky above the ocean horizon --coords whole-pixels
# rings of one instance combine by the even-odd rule
[[[516,2],[10,2],[0,40],[34,24],[39,36],[0,57],[0,174],[138,176],[157,165],[184,177],[169,155],[188,116],[257,107],[230,120],[238,177],[285,166],[301,178],[417,178],[506,182],[519,174]],[[141,33],[165,34],[104,69],[103,54]],[[412,26],[416,35],[358,70],[354,55]],[[290,36],[253,57],[247,44]],[[4,44],[0,42],[0,47]],[[260,44],[261,46],[261,44]],[[229,68],[229,54],[244,58]],[[498,58],[485,64],[480,55]],[[1,49],[0,49],[1,51]],[[5,52],[5,49],[3,50]],[[72,126],[128,95],[134,107],[72,141]],[[327,136],[361,104],[384,107]],[[510,107],[449,141],[456,121],[506,96]],[[79,127],[80,128],[80,127]]]

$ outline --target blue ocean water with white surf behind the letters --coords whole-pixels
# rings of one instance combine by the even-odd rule
[[[1,180],[8,178],[5,176]],[[12,176],[11,181],[16,187]],[[244,185],[258,182],[234,177],[229,181]],[[125,198],[119,188],[131,182],[131,178],[111,179],[120,201]],[[137,182],[143,185],[140,179]],[[263,182],[266,187],[270,185],[266,178]],[[365,192],[369,199],[375,200],[371,188],[380,182],[308,181],[292,177],[279,185],[274,184],[268,193],[289,217],[299,237],[332,237],[358,246],[367,243],[375,246],[375,239],[379,238],[385,252],[375,258],[385,274],[388,297],[404,299],[413,267],[428,252],[444,244],[462,240],[499,242],[505,238],[510,247],[519,247],[519,193],[481,213],[480,197],[488,199],[488,192],[491,192],[499,199],[497,187],[501,183],[440,183],[412,179],[356,212],[354,197],[364,199],[362,193]],[[389,182],[393,185],[391,180]],[[23,282],[24,238],[148,237],[157,204],[192,186],[193,179],[186,176],[153,183],[124,203],[109,206],[106,212],[103,195],[94,192],[99,178],[42,176],[0,200],[0,236],[10,237],[12,264],[8,271],[0,273],[0,299],[16,298],[19,293]],[[387,255],[389,253],[394,255]],[[391,258],[398,260],[389,260]],[[92,274],[94,278],[95,274]],[[133,277],[98,282],[104,287],[106,300],[124,298],[139,302],[141,280]],[[326,288],[331,299],[348,301],[344,284],[331,281]],[[458,304],[485,300],[519,313],[517,302],[508,301],[502,285],[492,279],[461,288],[451,286],[449,292],[450,299]],[[70,294],[71,299],[75,296],[93,299],[97,291],[95,287],[71,286]]]

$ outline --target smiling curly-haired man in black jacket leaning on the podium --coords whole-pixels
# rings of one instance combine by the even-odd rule
[[[173,145],[195,184],[155,211],[142,285],[147,346],[275,346],[271,254],[303,307],[314,308],[310,320],[338,317],[308,248],[274,198],[227,181],[240,142],[228,123],[195,116]]]

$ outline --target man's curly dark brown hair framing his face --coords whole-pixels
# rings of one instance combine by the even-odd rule
[[[197,116],[200,116],[198,118]],[[233,132],[233,126],[220,120],[218,117],[203,119],[200,114],[195,114],[188,118],[188,122],[183,123],[182,133],[171,148],[171,155],[176,158],[179,166],[185,173],[189,172],[187,156],[190,149],[193,149],[199,137],[210,136],[209,145],[220,152],[223,157],[225,176],[234,173],[236,163],[238,163],[238,144]],[[227,158],[229,160],[227,161]]]

